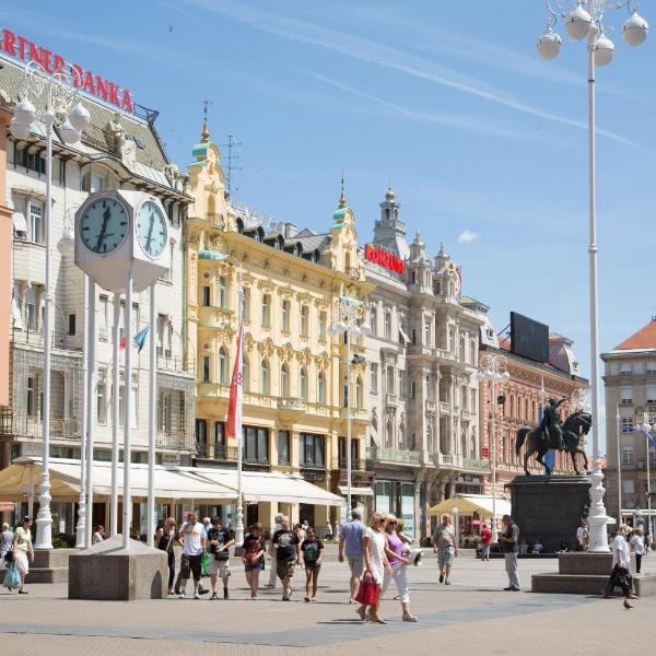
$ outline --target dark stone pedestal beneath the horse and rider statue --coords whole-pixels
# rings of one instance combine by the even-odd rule
[[[576,549],[576,529],[589,507],[590,481],[585,476],[517,476],[507,485],[519,540],[529,549],[537,539],[544,552],[560,550],[561,541]]]

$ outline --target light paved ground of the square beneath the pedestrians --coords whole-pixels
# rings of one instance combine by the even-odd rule
[[[457,649],[458,655],[610,654],[618,631],[632,646],[647,647],[645,620],[656,611],[656,597],[640,599],[626,611],[619,599],[576,595],[505,593],[503,561],[456,561],[453,585],[440,585],[437,567],[427,559],[409,572],[412,610],[420,621],[402,622],[393,588],[383,602],[387,625],[362,624],[348,600],[345,565],[325,563],[317,601],[303,601],[302,572],[294,576],[291,602],[280,600],[280,587],[262,590],[250,601],[244,575],[233,570],[231,599],[208,602],[187,598],[161,601],[82,601],[67,599],[66,585],[33,585],[30,595],[0,594],[0,634],[3,652],[27,656],[44,651],[74,656],[130,654],[134,656],[192,649],[195,656],[261,654],[324,655],[434,654]],[[268,566],[268,563],[267,563]],[[520,582],[530,589],[531,572],[557,569],[555,560],[520,561]],[[656,571],[656,554],[646,559]],[[262,576],[262,579],[268,579]],[[206,583],[206,585],[208,585]],[[517,639],[520,642],[518,647]],[[616,646],[613,646],[616,645]]]

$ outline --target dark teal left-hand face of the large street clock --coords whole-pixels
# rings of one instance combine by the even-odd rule
[[[92,253],[109,255],[128,234],[128,214],[115,198],[92,202],[80,220],[80,239]]]

